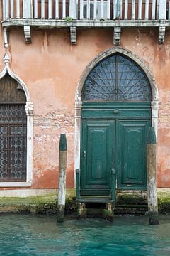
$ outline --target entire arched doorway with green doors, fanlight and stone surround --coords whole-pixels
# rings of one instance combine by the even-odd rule
[[[100,55],[79,82],[75,167],[81,195],[111,193],[114,170],[117,188],[147,189],[146,137],[149,126],[157,127],[157,87],[145,65],[123,52]]]

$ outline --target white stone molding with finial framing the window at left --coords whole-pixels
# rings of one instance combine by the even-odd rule
[[[0,72],[0,80],[6,74],[18,82],[18,85],[26,94],[26,115],[27,115],[27,178],[26,182],[1,182],[0,187],[29,187],[33,180],[33,102],[30,102],[30,94],[26,84],[13,73],[9,66],[10,58],[8,53],[4,55],[4,69]]]

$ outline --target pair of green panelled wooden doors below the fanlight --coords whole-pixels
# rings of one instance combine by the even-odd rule
[[[147,189],[149,118],[82,118],[81,195],[111,193],[112,170],[120,189]]]

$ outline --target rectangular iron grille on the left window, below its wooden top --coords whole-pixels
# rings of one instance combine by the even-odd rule
[[[26,181],[26,105],[0,105],[0,181]]]

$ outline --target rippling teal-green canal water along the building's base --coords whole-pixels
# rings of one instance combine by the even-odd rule
[[[56,223],[54,216],[1,214],[0,255],[170,255],[170,217],[149,226],[146,216]]]

